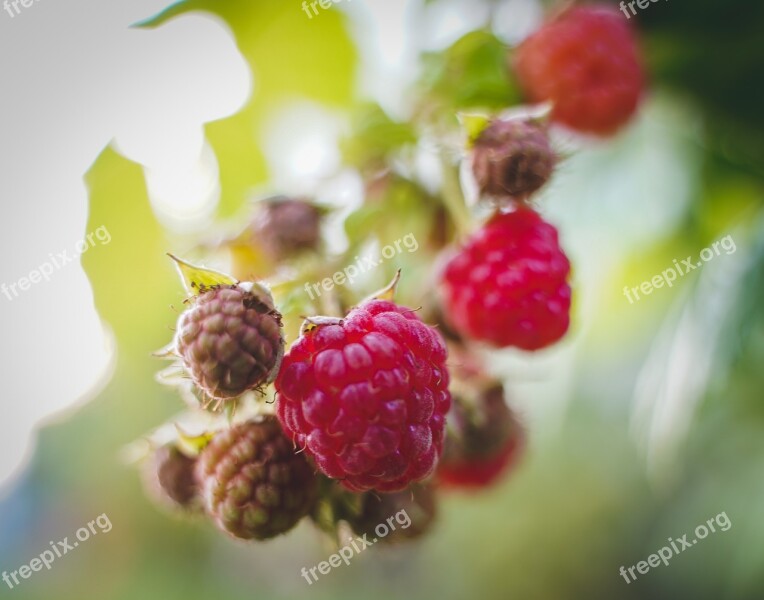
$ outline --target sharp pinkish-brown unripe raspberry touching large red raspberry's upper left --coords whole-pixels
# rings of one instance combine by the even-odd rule
[[[273,381],[284,341],[266,288],[216,286],[190,302],[178,319],[175,351],[209,398],[235,398]]]

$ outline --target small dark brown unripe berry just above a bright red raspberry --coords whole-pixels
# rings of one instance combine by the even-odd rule
[[[472,170],[483,196],[524,200],[548,181],[555,161],[543,127],[496,120],[475,141]]]

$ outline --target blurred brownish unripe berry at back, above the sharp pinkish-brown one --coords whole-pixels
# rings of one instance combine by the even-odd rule
[[[258,203],[255,242],[273,260],[315,250],[321,240],[321,209],[306,200],[276,196]]]

